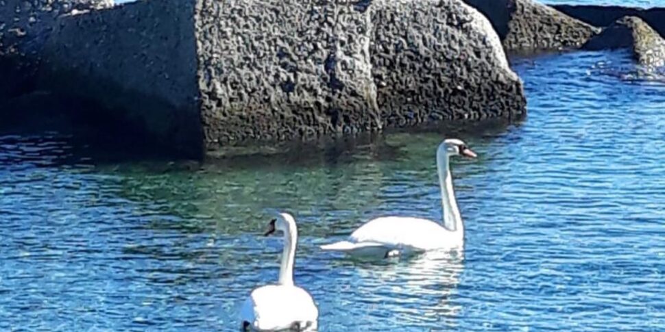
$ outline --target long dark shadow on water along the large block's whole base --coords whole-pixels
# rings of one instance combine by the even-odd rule
[[[16,137],[24,144],[30,140],[58,140],[66,153],[49,156],[56,164],[77,164],[82,159],[96,165],[130,164],[156,172],[191,171],[222,168],[261,168],[266,165],[315,166],[344,164],[356,155],[376,160],[394,159],[396,149],[385,144],[387,133],[439,133],[441,138],[483,136],[504,131],[511,123],[484,120],[480,123],[442,123],[411,129],[390,129],[385,133],[361,133],[354,137],[320,138],[308,142],[248,142],[209,151],[202,162],[168,157],[167,151],[155,149],[132,126],[104,118],[103,112],[86,112],[93,105],[80,100],[63,99],[49,92],[34,92],[0,104],[0,135],[5,140]],[[513,124],[519,125],[520,120]],[[104,130],[101,130],[104,128]],[[8,143],[9,144],[9,143]],[[47,151],[43,151],[46,153]]]

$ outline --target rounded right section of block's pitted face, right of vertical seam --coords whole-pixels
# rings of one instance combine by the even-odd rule
[[[374,5],[372,66],[387,126],[524,114],[522,82],[477,10],[457,0]]]

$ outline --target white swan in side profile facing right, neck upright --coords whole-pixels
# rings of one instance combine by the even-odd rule
[[[476,157],[466,144],[458,139],[444,140],[437,149],[437,169],[444,225],[439,222],[411,217],[380,217],[370,220],[354,231],[348,241],[321,246],[328,251],[341,251],[352,256],[404,255],[441,248],[462,247],[464,224],[459,215],[455,192],[452,190],[451,155]]]

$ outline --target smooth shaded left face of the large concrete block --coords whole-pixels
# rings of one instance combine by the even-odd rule
[[[62,16],[43,50],[39,88],[103,106],[77,116],[197,157],[194,14],[194,0],[159,0]]]

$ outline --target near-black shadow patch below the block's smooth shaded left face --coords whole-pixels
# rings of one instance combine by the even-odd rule
[[[0,103],[0,136],[14,136],[25,144],[61,141],[66,153],[51,151],[52,166],[78,164],[81,159],[95,164],[173,159],[136,127],[108,116],[110,112],[92,111],[98,109],[97,104],[43,90],[23,94]]]

